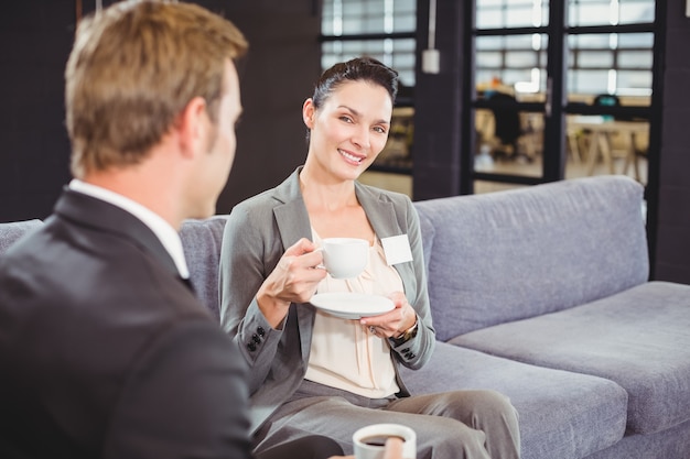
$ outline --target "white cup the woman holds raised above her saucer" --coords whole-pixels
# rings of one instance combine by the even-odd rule
[[[326,238],[322,241],[323,264],[335,278],[357,277],[369,261],[369,242],[356,238]]]

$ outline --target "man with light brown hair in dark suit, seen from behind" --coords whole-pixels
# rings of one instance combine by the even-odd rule
[[[79,24],[75,179],[0,259],[0,457],[251,457],[246,365],[187,286],[176,232],[225,186],[246,48],[188,3]]]

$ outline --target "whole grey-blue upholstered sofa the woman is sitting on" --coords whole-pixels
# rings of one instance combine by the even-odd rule
[[[439,342],[410,389],[507,394],[525,459],[690,458],[690,286],[647,281],[642,206],[622,176],[416,203]],[[224,223],[181,231],[216,316]]]

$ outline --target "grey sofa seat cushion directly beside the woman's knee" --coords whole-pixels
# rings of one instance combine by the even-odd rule
[[[582,458],[618,441],[625,431],[625,391],[612,381],[533,367],[438,342],[421,370],[402,369],[413,394],[493,389],[520,418],[522,455]]]

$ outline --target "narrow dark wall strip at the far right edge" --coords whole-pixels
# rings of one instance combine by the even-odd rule
[[[690,284],[690,19],[668,0],[655,278]]]

